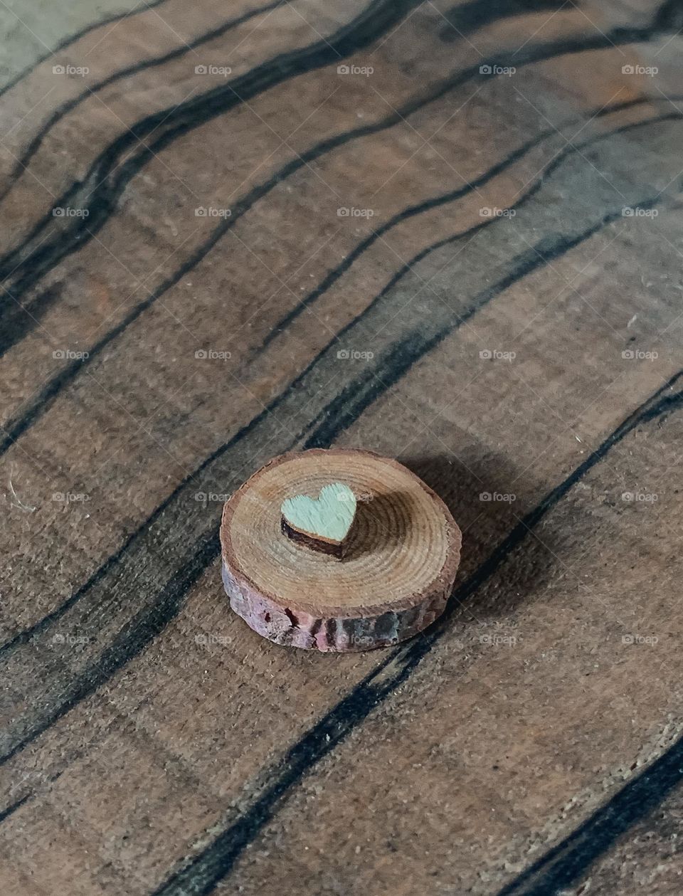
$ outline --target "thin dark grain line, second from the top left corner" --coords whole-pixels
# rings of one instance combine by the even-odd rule
[[[156,68],[158,65],[166,65],[167,62],[170,62],[173,59],[178,59],[181,56],[185,56],[187,53],[192,52],[197,47],[201,47],[203,44],[208,43],[209,40],[219,38],[221,35],[226,34],[228,31],[233,30],[234,28],[237,28],[239,25],[243,25],[244,22],[249,22],[249,20],[253,19],[255,16],[261,15],[262,13],[269,13],[272,10],[276,9],[277,6],[282,6],[286,2],[287,0],[274,0],[274,2],[271,2],[264,6],[258,6],[246,13],[242,13],[242,15],[238,15],[232,19],[228,19],[226,22],[223,22],[222,25],[218,25],[217,28],[206,31],[198,38],[191,40],[189,43],[184,44],[182,47],[176,47],[174,50],[171,50],[163,56],[156,56],[153,59],[146,59],[143,62],[135,63],[135,65],[128,65],[126,68],[122,68],[120,71],[108,75],[107,78],[102,78],[100,81],[94,83],[91,87],[86,88],[86,90],[82,90],[77,97],[73,97],[73,99],[69,99],[66,102],[62,103],[61,106],[57,106],[52,115],[47,119],[47,122],[40,128],[38,134],[36,134],[36,136],[29,142],[26,149],[21,153],[21,157],[16,160],[13,170],[9,175],[8,184],[4,187],[4,190],[0,191],[0,202],[3,202],[5,196],[10,193],[15,181],[18,180],[19,177],[21,177],[21,172],[25,168],[28,168],[30,160],[40,149],[40,146],[47,137],[49,131],[58,122],[60,122],[62,118],[64,118],[64,116],[68,115],[70,112],[73,112],[74,108],[80,106],[85,99],[89,99],[100,90],[104,90],[104,88],[108,87],[109,84],[114,84],[117,81],[122,81],[124,78],[130,77],[132,74],[144,72],[149,68]]]

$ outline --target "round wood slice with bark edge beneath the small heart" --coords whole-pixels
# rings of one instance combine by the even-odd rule
[[[346,483],[357,507],[342,558],[288,538],[281,505]],[[431,488],[397,461],[352,449],[283,454],[223,510],[230,606],[277,644],[370,650],[404,641],[446,606],[460,530]]]

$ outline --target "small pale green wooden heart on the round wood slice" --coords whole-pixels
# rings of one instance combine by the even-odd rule
[[[292,529],[311,538],[341,544],[354,521],[356,500],[343,482],[320,489],[317,498],[295,495],[282,502],[282,515]]]

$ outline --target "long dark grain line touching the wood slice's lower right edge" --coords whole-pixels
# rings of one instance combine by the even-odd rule
[[[568,494],[570,489],[585,477],[589,470],[602,461],[614,445],[619,444],[636,426],[663,417],[683,405],[683,391],[671,395],[673,385],[683,377],[683,371],[670,378],[649,399],[628,415],[606,439],[567,478],[542,498],[533,510],[526,513],[507,538],[451,595],[446,613],[440,617],[423,636],[407,645],[392,650],[387,659],[380,662],[370,675],[354,688],[336,706],[327,712],[306,734],[287,752],[284,758],[266,776],[270,782],[262,788],[252,806],[240,815],[185,866],[171,874],[152,896],[204,896],[212,892],[216,884],[229,874],[235,861],[246,846],[259,834],[265,824],[273,818],[286,794],[312,771],[312,768],[327,754],[341,744],[367,716],[384,702],[398,687],[404,685],[419,663],[431,652],[432,647],[448,631],[448,622],[458,605],[468,599],[493,573],[496,573],[512,551],[528,538],[530,531],[542,518]],[[679,756],[677,755],[677,759]],[[664,763],[670,768],[670,761]],[[683,772],[679,769],[678,774]],[[666,780],[666,779],[665,779]],[[662,789],[662,788],[661,788]],[[617,828],[611,831],[618,836]],[[512,896],[507,891],[505,896]],[[532,891],[520,891],[525,896],[551,896],[555,890],[542,887]],[[503,896],[500,893],[499,896]]]

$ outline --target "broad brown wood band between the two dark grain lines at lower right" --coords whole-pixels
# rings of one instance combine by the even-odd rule
[[[658,545],[660,514],[678,518],[679,502],[668,490],[662,504],[623,500],[610,470],[621,452],[637,481],[648,476],[652,452],[675,463],[681,415],[662,422],[666,408],[593,461],[565,495],[549,496],[542,525],[539,514],[520,521],[507,556],[485,577],[474,573],[481,587],[466,581],[457,589],[453,616],[432,633],[433,646],[397,654],[392,677],[414,668],[410,695],[392,688],[384,697],[391,673],[382,671],[376,686],[383,699],[363,733],[350,733],[321,757],[244,854],[235,886],[259,892],[277,869],[295,892],[320,881],[329,888],[333,880],[352,881],[354,893],[419,892],[434,881],[457,892],[508,892],[515,871],[540,850],[610,797],[619,806],[625,782],[656,762],[681,730],[677,676],[661,666],[661,651],[680,636],[667,597],[679,564],[669,556],[662,570]],[[622,569],[628,586],[615,590],[610,583]],[[645,597],[637,607],[636,593]],[[625,689],[636,678],[647,687]],[[443,706],[457,706],[457,724],[451,717],[444,725]],[[359,771],[359,762],[368,771]],[[390,771],[380,776],[377,767]],[[352,768],[352,792],[341,803],[330,800]],[[645,793],[634,795],[634,808],[643,808]],[[612,839],[619,821],[615,811]],[[414,844],[420,823],[431,830],[428,851]],[[567,846],[569,855],[560,851],[561,869],[549,862],[547,876],[511,892],[576,886],[602,833],[588,828],[576,848]],[[271,842],[277,853],[269,852]]]

